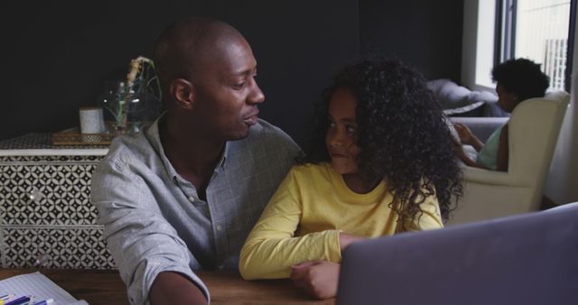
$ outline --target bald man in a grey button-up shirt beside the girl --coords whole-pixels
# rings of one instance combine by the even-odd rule
[[[238,254],[299,148],[258,119],[265,97],[243,35],[216,20],[173,23],[154,60],[167,111],[115,139],[91,200],[131,304],[205,304],[195,270]]]

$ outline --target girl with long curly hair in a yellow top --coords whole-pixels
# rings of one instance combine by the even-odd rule
[[[239,272],[291,277],[325,299],[337,293],[351,243],[443,227],[452,196],[461,195],[461,171],[441,107],[398,60],[341,70],[314,118],[311,146],[247,237]]]

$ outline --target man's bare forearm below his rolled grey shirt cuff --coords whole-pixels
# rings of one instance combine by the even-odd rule
[[[149,293],[151,304],[207,304],[199,287],[180,273],[159,273]]]

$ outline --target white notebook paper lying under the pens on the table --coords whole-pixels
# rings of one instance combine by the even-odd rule
[[[11,294],[15,297],[25,295],[33,302],[52,299],[54,302],[51,305],[89,304],[85,300],[74,299],[69,292],[39,272],[15,275],[0,281],[0,294]]]

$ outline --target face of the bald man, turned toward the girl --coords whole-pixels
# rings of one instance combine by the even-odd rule
[[[228,42],[200,64],[192,81],[196,119],[209,134],[225,141],[247,136],[265,100],[256,84],[256,60],[247,41]]]

